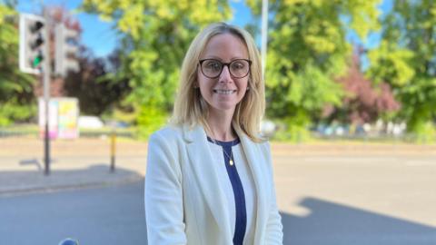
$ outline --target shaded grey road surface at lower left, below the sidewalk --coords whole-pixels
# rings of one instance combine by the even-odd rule
[[[146,244],[143,182],[0,197],[0,244]]]

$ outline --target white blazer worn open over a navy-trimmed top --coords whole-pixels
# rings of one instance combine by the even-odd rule
[[[257,195],[254,244],[282,244],[268,142],[236,132]],[[231,245],[227,200],[203,127],[165,127],[150,137],[145,173],[145,220],[150,245]]]

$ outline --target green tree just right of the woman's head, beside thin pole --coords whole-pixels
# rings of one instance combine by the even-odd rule
[[[260,15],[261,1],[249,0]],[[380,26],[379,0],[270,1],[266,64],[267,115],[302,130],[321,117],[326,104],[339,105],[337,77],[346,72],[354,30],[362,40]]]

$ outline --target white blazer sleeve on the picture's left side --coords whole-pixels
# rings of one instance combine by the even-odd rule
[[[173,147],[175,148],[175,147]],[[149,140],[144,206],[148,244],[186,244],[182,171],[163,135]]]

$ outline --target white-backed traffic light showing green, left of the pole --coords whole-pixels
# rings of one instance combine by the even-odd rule
[[[38,15],[20,15],[20,70],[40,73],[45,58],[45,19]]]

